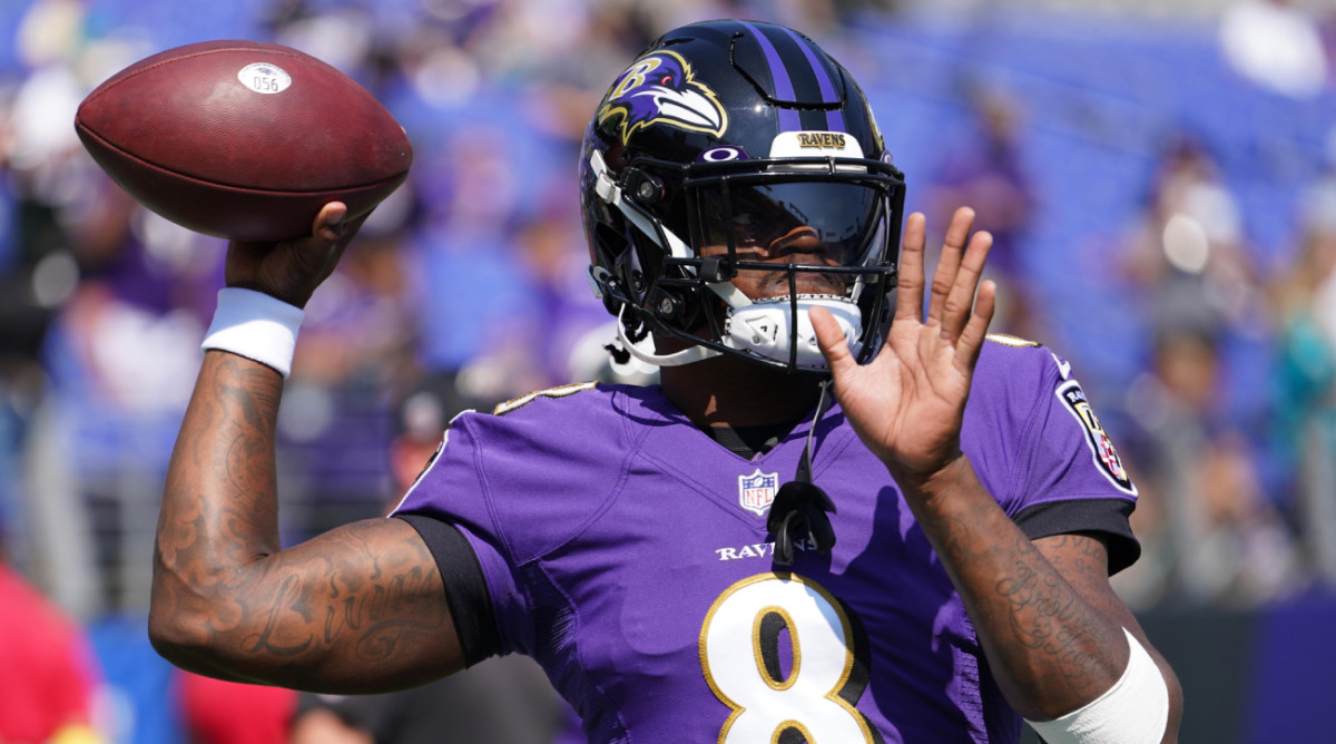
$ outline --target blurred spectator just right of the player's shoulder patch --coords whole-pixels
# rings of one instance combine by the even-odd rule
[[[1242,431],[1220,415],[1221,359],[1209,329],[1162,329],[1152,370],[1129,391],[1145,453],[1142,560],[1116,586],[1142,600],[1255,606],[1303,586],[1279,509]],[[1146,517],[1154,518],[1149,521]]]

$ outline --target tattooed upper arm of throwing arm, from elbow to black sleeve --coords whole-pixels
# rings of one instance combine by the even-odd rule
[[[261,568],[262,566],[262,568]],[[259,562],[235,596],[232,671],[317,692],[414,687],[464,667],[432,552],[401,520],[367,520]]]

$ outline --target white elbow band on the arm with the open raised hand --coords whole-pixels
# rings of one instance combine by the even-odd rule
[[[1128,632],[1128,668],[1097,700],[1051,721],[1026,721],[1049,744],[1158,744],[1169,725],[1169,687]]]

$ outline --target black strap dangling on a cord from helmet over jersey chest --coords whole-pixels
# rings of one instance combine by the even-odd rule
[[[835,502],[812,482],[812,435],[826,411],[826,393],[830,379],[822,381],[822,395],[816,401],[816,415],[807,431],[803,455],[798,459],[798,473],[794,480],[779,488],[775,502],[770,506],[766,529],[775,540],[775,562],[792,565],[795,542],[808,540],[822,553],[830,553],[835,546],[835,529],[827,512],[835,513]]]

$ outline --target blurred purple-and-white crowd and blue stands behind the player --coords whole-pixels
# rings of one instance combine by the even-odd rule
[[[580,139],[645,43],[740,16],[852,69],[930,228],[970,204],[997,236],[993,330],[1073,363],[1141,492],[1144,554],[1116,577],[1133,609],[1332,592],[1336,11],[1071,5],[0,3],[7,570],[98,628],[103,665],[143,644],[162,477],[222,286],[223,240],[139,208],[84,154],[73,112],[98,83],[179,44],[278,41],[413,140],[409,182],[307,307],[279,421],[299,541],[383,513],[458,410],[652,379],[603,350]]]

